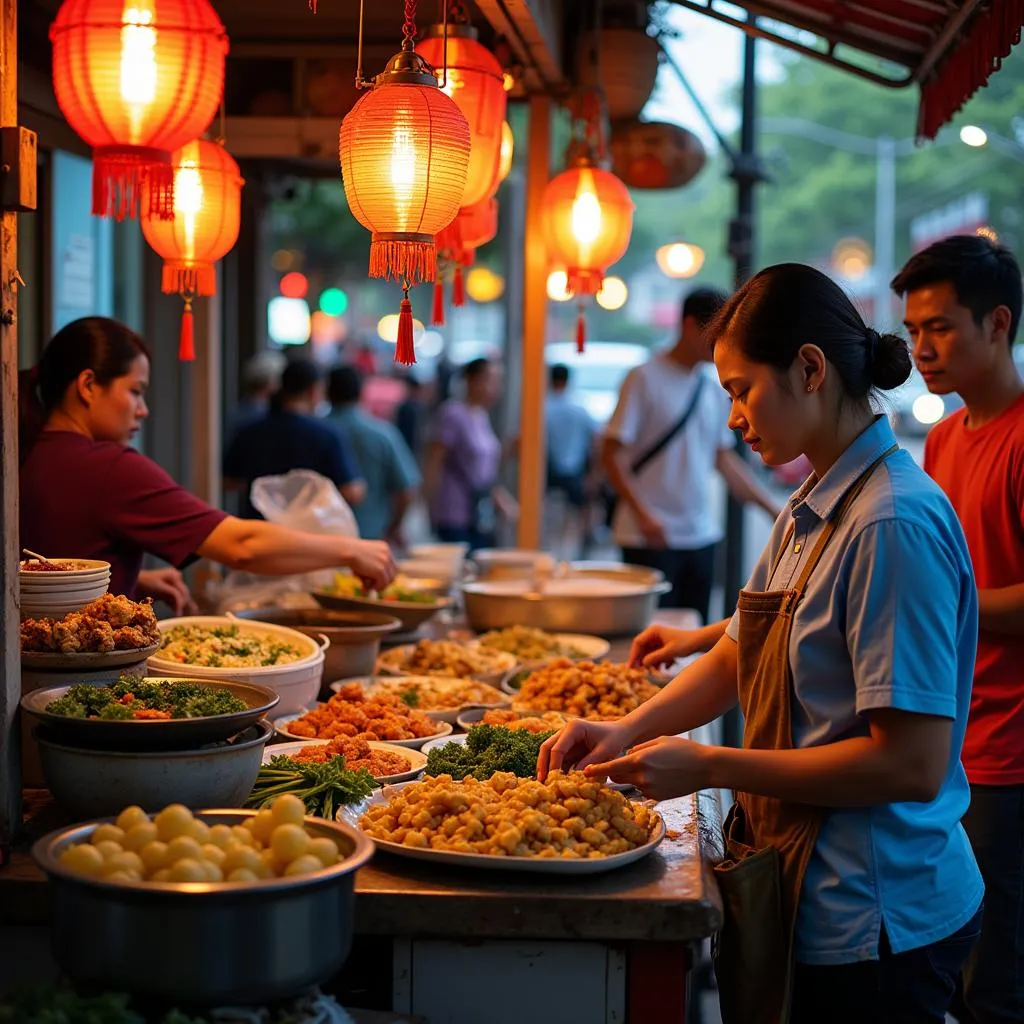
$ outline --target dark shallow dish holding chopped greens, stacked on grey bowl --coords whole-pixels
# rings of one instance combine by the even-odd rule
[[[166,683],[200,683],[214,689],[229,690],[249,706],[246,711],[207,718],[145,719],[142,721],[106,721],[105,719],[69,718],[46,711],[51,700],[62,697],[70,686],[44,686],[22,697],[22,710],[44,724],[53,739],[74,746],[93,750],[159,751],[200,746],[212,743],[255,725],[276,706],[281,697],[267,686],[230,680],[188,679],[185,676],[165,679]]]

